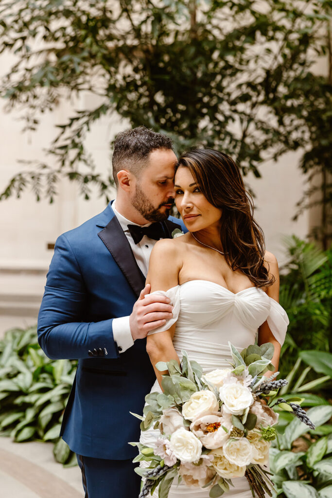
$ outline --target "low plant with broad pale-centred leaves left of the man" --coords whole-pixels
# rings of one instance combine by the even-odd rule
[[[50,360],[37,342],[36,327],[12,329],[0,341],[0,431],[14,441],[55,443],[57,461],[74,465],[75,455],[59,439],[76,361]]]

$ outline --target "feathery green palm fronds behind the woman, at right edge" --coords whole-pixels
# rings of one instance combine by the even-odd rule
[[[322,251],[295,236],[285,239],[288,262],[280,276],[280,304],[289,317],[281,377],[301,350],[332,349],[332,248]]]

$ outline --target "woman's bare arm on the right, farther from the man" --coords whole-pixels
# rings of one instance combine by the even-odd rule
[[[272,297],[275,301],[279,302],[279,267],[278,267],[278,261],[277,258],[275,257],[272,252],[266,252],[265,253],[265,263],[264,266],[268,269],[269,276],[274,276],[275,282],[270,285],[270,287],[267,288],[267,295],[269,297]],[[270,327],[267,324],[267,321],[265,321],[258,329],[258,346],[261,346],[262,344],[265,344],[267,342],[270,342],[274,346],[274,355],[271,360],[271,363],[274,365],[275,370],[274,372],[278,371],[278,366],[279,366],[279,359],[280,359],[280,350],[281,346],[280,343],[277,341],[277,339],[274,337],[274,335],[271,332]],[[273,372],[266,372],[264,375],[267,377],[271,375]]]

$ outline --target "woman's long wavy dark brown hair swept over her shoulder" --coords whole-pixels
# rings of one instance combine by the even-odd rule
[[[256,287],[275,281],[264,266],[265,241],[253,217],[253,200],[236,163],[214,149],[193,149],[179,159],[189,168],[208,201],[222,210],[221,246],[232,270],[241,270]]]

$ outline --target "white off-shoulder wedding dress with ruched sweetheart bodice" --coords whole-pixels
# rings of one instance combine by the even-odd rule
[[[249,287],[234,294],[225,287],[208,280],[190,280],[167,292],[174,306],[173,318],[165,325],[150,332],[155,334],[168,330],[176,322],[174,348],[182,360],[182,350],[189,360],[197,361],[204,372],[228,368],[232,361],[228,341],[240,352],[254,344],[258,327],[267,320],[276,340],[283,344],[288,317],[284,309],[263,290]],[[161,392],[156,381],[151,392]],[[140,442],[153,447],[160,435],[153,428],[141,433]],[[145,462],[142,462],[145,466]],[[225,495],[232,498],[251,498],[252,494],[245,477],[232,480],[234,488]],[[150,495],[149,495],[150,496]],[[169,498],[208,498],[209,490],[188,488],[183,483],[173,484]],[[158,491],[153,494],[158,498]]]

